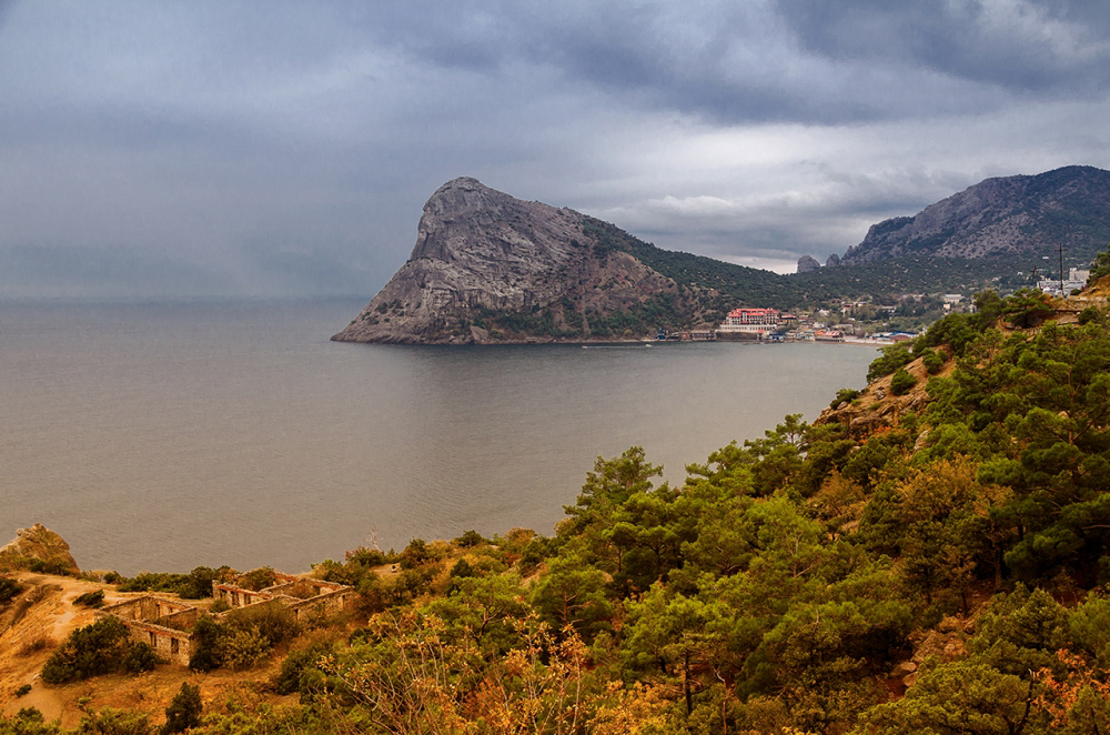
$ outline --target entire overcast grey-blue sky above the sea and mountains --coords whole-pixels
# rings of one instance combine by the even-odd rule
[[[1106,0],[0,0],[0,295],[369,299],[460,175],[793,271],[1108,91]]]

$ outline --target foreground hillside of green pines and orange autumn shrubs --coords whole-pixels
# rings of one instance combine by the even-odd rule
[[[632,447],[551,537],[319,565],[361,607],[266,685],[299,703],[190,732],[1110,732],[1107,315],[978,303],[877,361],[940,360],[891,429],[787,416],[680,486]]]

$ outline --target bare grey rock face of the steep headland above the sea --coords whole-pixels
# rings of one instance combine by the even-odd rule
[[[608,314],[659,294],[677,296],[670,279],[626,252],[598,248],[588,220],[476,179],[448,181],[424,205],[408,261],[332,339],[524,341],[534,339],[527,324],[535,323],[544,325],[545,339],[572,332],[588,339],[587,314]],[[504,329],[487,329],[491,322]]]

